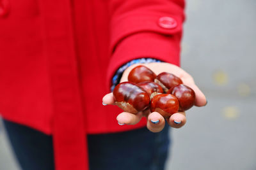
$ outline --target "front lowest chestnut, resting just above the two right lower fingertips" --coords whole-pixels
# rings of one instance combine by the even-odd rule
[[[151,99],[150,111],[156,111],[164,118],[169,118],[179,111],[179,101],[172,94],[157,94]]]

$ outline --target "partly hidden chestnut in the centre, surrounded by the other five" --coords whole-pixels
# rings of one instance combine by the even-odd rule
[[[156,96],[157,94],[163,93],[162,87],[153,81],[143,81],[137,85],[142,87],[148,93],[150,99],[152,99],[152,97]]]

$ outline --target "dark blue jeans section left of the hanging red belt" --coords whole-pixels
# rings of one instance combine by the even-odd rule
[[[52,138],[29,127],[3,120],[13,151],[23,170],[53,170]]]

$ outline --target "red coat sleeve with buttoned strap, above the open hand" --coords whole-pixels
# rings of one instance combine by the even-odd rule
[[[132,59],[152,57],[179,65],[184,0],[112,0],[109,11],[109,82]]]

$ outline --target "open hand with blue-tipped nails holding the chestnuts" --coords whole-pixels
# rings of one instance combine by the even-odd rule
[[[138,65],[146,66],[152,71],[154,71],[154,73],[156,74],[159,74],[162,72],[175,74],[175,76],[178,76],[182,80],[184,85],[188,85],[189,87],[191,87],[191,89],[195,91],[195,94],[196,94],[195,106],[200,107],[200,106],[205,106],[205,104],[207,104],[204,94],[195,85],[195,81],[193,80],[192,76],[186,73],[186,71],[184,71],[180,67],[175,66],[173,64],[166,63],[166,62],[134,64],[128,67],[124,71],[124,74],[122,75],[120,82],[128,81],[127,78],[130,71]],[[104,104],[115,104],[112,93],[106,94],[106,96],[103,97],[102,101]],[[164,128],[165,121],[167,121],[171,127],[175,127],[175,128],[180,128],[184,124],[186,124],[185,112],[174,113],[170,118],[168,118],[168,120],[164,120],[163,116],[160,115],[159,113],[157,112],[151,113],[149,110],[139,112],[136,115],[132,113],[122,112],[116,117],[116,120],[118,121],[119,124],[134,125],[134,124],[138,124],[138,122],[140,122],[142,117],[147,117],[147,128],[149,131],[152,131],[152,132],[162,131],[162,129]]]

